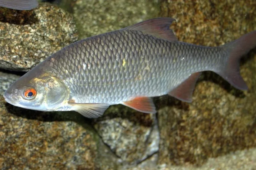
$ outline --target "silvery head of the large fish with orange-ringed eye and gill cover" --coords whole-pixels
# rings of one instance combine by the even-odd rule
[[[6,102],[26,109],[55,111],[67,103],[67,86],[55,76],[29,71],[4,92]]]

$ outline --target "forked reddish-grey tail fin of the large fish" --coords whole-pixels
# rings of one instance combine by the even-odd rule
[[[215,72],[222,76],[232,86],[240,90],[248,87],[240,75],[240,59],[256,46],[256,30],[241,36],[239,39],[223,45],[229,53],[223,67]]]

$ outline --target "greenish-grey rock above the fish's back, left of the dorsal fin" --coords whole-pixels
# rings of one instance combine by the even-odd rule
[[[158,0],[77,0],[72,5],[79,39],[115,31],[157,17],[159,13]]]

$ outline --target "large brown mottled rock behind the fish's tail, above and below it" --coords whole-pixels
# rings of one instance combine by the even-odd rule
[[[162,16],[177,20],[171,27],[178,40],[218,46],[256,30],[254,2],[164,1]],[[208,158],[255,147],[255,71],[254,49],[241,64],[248,91],[239,91],[217,74],[206,72],[196,85],[192,103],[160,98],[158,163],[200,166]]]

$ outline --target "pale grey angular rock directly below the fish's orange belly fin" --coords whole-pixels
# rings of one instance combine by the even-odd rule
[[[111,106],[94,128],[124,164],[138,164],[159,150],[159,129],[154,114]]]

